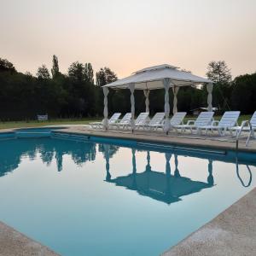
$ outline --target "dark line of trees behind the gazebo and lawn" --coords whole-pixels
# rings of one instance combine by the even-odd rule
[[[256,73],[231,78],[230,69],[224,61],[211,61],[207,78],[215,82],[212,90],[212,106],[220,113],[240,110],[253,113],[256,110]],[[49,114],[49,118],[102,117],[102,85],[117,80],[109,68],[102,67],[94,73],[90,62],[73,62],[67,74],[59,69],[57,56],[52,67],[38,67],[36,76],[20,73],[14,65],[0,58],[0,119],[35,119],[37,114]],[[149,95],[150,113],[164,109],[164,90],[152,90]],[[170,108],[172,109],[172,93]],[[136,112],[145,109],[143,91],[135,92]],[[183,87],[177,94],[177,109],[189,113],[191,109],[207,107],[205,86]],[[131,111],[129,90],[110,90],[108,111],[121,113]]]

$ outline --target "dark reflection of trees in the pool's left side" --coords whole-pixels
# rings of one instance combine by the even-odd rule
[[[96,144],[65,141],[51,138],[12,139],[0,143],[0,176],[15,170],[21,158],[34,160],[37,154],[44,163],[49,165],[55,158],[58,171],[62,169],[64,154],[70,154],[77,165],[96,159]]]

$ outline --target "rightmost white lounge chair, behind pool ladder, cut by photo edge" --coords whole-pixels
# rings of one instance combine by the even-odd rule
[[[244,120],[241,122],[241,126],[235,126],[231,128],[231,131],[236,131],[236,138],[239,139],[242,131],[249,131],[247,137],[247,143],[251,137],[255,138],[254,131],[256,130],[256,111],[253,113],[253,116],[250,120]]]

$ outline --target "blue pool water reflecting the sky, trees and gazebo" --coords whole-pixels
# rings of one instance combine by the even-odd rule
[[[221,150],[2,138],[0,220],[61,255],[159,255],[253,189],[255,166]]]

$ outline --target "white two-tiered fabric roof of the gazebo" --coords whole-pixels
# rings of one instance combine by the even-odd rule
[[[154,90],[163,88],[162,80],[171,79],[172,84],[176,86],[187,86],[195,84],[212,83],[209,79],[204,79],[195,76],[192,73],[179,70],[178,67],[163,64],[159,66],[146,67],[132,73],[131,76],[125,79],[119,79],[111,84],[106,84],[104,87],[113,89],[126,89],[128,84],[135,84],[136,90]]]

